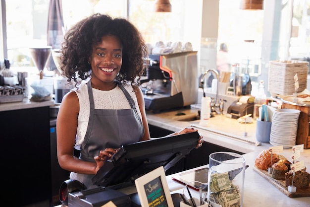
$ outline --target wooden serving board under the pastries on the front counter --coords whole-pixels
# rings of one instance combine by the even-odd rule
[[[287,187],[285,186],[285,180],[276,180],[271,177],[271,174],[269,174],[267,170],[261,170],[257,166],[253,166],[253,170],[290,198],[310,196],[310,186],[305,189],[297,188],[295,193],[291,193],[287,190]]]

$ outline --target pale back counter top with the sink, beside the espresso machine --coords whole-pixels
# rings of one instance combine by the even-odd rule
[[[176,116],[177,113],[185,115]],[[255,145],[256,140],[256,121],[253,123],[241,124],[236,119],[227,118],[225,115],[216,115],[209,119],[207,127],[199,126],[199,120],[196,121],[178,121],[183,117],[193,117],[198,114],[198,109],[180,109],[177,111],[168,111],[159,114],[147,113],[150,125],[161,127],[170,131],[179,131],[185,127],[194,127],[204,136],[204,140],[219,146],[223,146],[242,153],[252,151],[262,151],[272,146],[269,143],[259,143]],[[244,136],[244,133],[247,136]],[[244,140],[241,140],[244,139]],[[247,141],[251,142],[247,143]]]

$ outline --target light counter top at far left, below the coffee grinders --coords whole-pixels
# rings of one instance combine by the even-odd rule
[[[54,105],[53,100],[33,102],[33,101],[30,101],[28,98],[24,98],[23,101],[20,101],[20,102],[0,103],[0,111],[38,108],[38,107],[52,106],[52,105]]]

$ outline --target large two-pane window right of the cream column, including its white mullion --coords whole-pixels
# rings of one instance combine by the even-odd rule
[[[250,64],[252,81],[267,78],[269,60],[310,59],[310,0],[265,0],[264,10],[241,10],[239,2],[219,0],[217,45],[227,44],[243,72]]]

